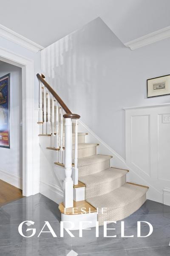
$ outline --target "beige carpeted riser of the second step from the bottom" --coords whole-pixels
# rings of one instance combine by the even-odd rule
[[[81,178],[79,179],[81,181]],[[96,184],[95,186],[86,186],[85,188],[85,199],[95,197],[96,195],[107,194],[114,189],[118,189],[126,183],[126,175],[116,179],[111,180],[108,183]]]

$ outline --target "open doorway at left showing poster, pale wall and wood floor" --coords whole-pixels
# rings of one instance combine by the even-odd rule
[[[0,204],[21,197],[22,116],[22,69],[0,61]]]

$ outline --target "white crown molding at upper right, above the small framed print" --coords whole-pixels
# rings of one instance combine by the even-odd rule
[[[163,28],[163,29],[159,29],[150,34],[144,35],[130,42],[127,42],[125,43],[125,46],[129,47],[131,50],[134,50],[134,49],[138,49],[140,47],[146,46],[148,44],[161,41],[166,38],[170,38],[170,26],[167,26],[166,28]]]

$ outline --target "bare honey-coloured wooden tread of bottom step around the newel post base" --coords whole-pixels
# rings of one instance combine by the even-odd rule
[[[73,209],[74,208],[74,209]],[[82,209],[83,208],[83,209]],[[73,213],[74,210],[74,213]],[[89,204],[87,201],[74,201],[73,207],[65,208],[63,202],[59,204],[59,211],[66,215],[77,215],[77,214],[85,214],[91,212],[97,212],[97,209]],[[85,212],[83,212],[85,211]]]

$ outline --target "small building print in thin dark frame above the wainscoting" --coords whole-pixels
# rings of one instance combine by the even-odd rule
[[[147,98],[170,94],[170,75],[147,79]]]

